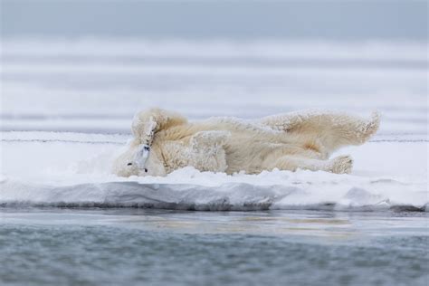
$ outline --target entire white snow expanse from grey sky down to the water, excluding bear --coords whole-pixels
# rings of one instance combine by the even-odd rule
[[[426,45],[2,39],[0,205],[427,211]],[[134,113],[154,106],[190,119],[308,108],[382,119],[367,144],[338,152],[354,157],[350,175],[112,175]]]

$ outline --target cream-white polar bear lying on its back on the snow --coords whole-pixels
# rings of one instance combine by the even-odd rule
[[[377,132],[379,115],[302,110],[244,120],[219,117],[190,122],[167,110],[136,114],[134,138],[114,162],[118,176],[166,176],[177,168],[258,174],[278,168],[350,173],[349,156],[329,159],[347,145],[360,145]]]

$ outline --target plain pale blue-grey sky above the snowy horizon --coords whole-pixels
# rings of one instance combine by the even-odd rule
[[[0,0],[2,37],[427,41],[427,1]]]

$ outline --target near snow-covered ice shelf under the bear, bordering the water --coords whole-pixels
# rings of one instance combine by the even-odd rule
[[[120,178],[110,174],[110,166],[123,148],[119,144],[126,143],[124,136],[37,132],[3,135],[2,205],[427,209],[427,141],[376,138],[362,147],[342,150],[356,158],[351,175],[274,170],[226,176],[186,167],[166,177]],[[33,139],[24,139],[27,137]]]

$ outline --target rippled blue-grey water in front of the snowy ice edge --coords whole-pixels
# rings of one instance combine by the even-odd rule
[[[427,285],[427,213],[3,208],[12,285]]]

